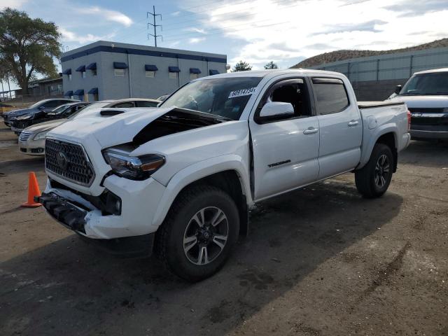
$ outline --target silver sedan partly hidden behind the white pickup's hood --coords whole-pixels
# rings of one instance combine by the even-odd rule
[[[69,118],[51,120],[46,123],[40,123],[25,128],[20,133],[19,148],[22,153],[28,155],[45,154],[45,137],[50,130],[65,123],[76,116],[82,116],[83,113],[91,109],[98,108],[128,108],[128,107],[156,107],[160,101],[156,99],[128,98],[119,100],[103,100],[94,102],[73,113]]]

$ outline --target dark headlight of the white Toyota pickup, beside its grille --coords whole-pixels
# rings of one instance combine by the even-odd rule
[[[116,175],[137,181],[148,179],[165,164],[165,157],[158,154],[128,156],[123,152],[106,150],[103,157]]]

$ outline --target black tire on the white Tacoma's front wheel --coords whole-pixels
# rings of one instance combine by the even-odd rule
[[[204,218],[206,218],[202,228],[207,228],[207,226],[210,228],[211,231],[207,231],[208,229],[206,231],[209,232],[209,235],[207,235],[208,239],[210,239],[209,237],[211,235],[211,241],[208,239],[206,241],[202,240],[205,239],[204,237],[207,232],[202,232],[202,235],[198,233],[198,230],[205,229],[202,229],[197,224],[197,221],[193,219],[202,209],[205,209],[203,214]],[[216,225],[216,228],[210,223],[211,217],[213,217],[212,212],[215,211],[214,209],[221,210],[225,215],[225,220],[221,221],[218,224],[219,226]],[[218,214],[218,210],[216,210],[216,214]],[[200,217],[199,215],[197,218]],[[228,228],[225,232],[227,233],[227,240],[223,244],[224,247],[221,248],[214,241],[215,237],[223,237],[224,233],[212,231],[225,231],[223,229],[225,227]],[[195,229],[196,234],[193,233]],[[197,237],[197,242],[195,243],[197,246],[193,246],[190,250],[185,251],[184,248],[188,248],[188,246],[184,246],[184,239],[193,238],[185,238],[187,235]],[[160,226],[156,235],[155,254],[170,272],[190,282],[200,281],[215,274],[223,267],[233,246],[237,242],[238,235],[239,214],[232,198],[223,190],[216,187],[194,186],[184,190],[176,198],[176,201],[169,210],[167,218],[165,218],[164,223]],[[209,263],[205,263],[207,258],[204,259],[203,255],[200,254],[204,246],[206,248],[202,251],[206,251],[210,255],[211,261]],[[218,251],[220,248],[221,250]],[[196,250],[198,251],[197,262],[204,262],[204,265],[194,263]],[[214,258],[211,252],[214,252]]]

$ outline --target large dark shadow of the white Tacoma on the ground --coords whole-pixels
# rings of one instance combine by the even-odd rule
[[[0,333],[227,335],[401,204],[393,193],[365,200],[334,180],[276,197],[253,211],[249,237],[221,272],[193,284],[153,258],[113,258],[71,235],[1,264]]]

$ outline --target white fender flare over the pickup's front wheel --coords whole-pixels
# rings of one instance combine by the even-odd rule
[[[181,193],[183,188],[204,177],[227,170],[237,172],[239,182],[241,183],[241,190],[246,195],[248,204],[251,204],[251,185],[248,179],[248,167],[244,165],[244,160],[238,155],[222,155],[197,162],[177,172],[167,184],[165,192],[160,199],[158,209],[155,211],[151,226],[158,228],[163,223],[174,200],[176,200],[177,195]]]

